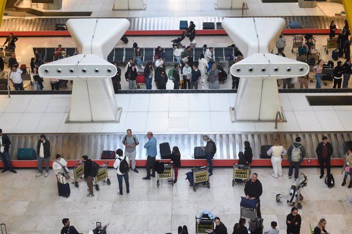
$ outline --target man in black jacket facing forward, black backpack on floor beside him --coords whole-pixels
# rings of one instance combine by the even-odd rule
[[[320,179],[324,176],[324,162],[326,164],[326,173],[330,174],[330,158],[334,152],[333,145],[328,142],[328,137],[323,136],[322,141],[318,144],[315,151],[320,164]]]

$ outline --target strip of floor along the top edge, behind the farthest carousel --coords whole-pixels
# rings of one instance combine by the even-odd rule
[[[316,8],[299,8],[298,3],[262,3],[261,0],[245,2],[248,10],[244,11],[244,16],[334,16],[343,11],[343,6],[337,3],[318,3]],[[214,0],[145,0],[144,3],[145,11],[113,11],[114,0],[65,0],[59,11],[92,11],[91,17],[121,18],[242,15],[242,10],[215,10]],[[20,7],[30,7],[30,0],[24,0]],[[32,7],[43,9],[42,4]]]

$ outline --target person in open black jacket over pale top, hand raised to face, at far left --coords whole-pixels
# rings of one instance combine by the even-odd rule
[[[37,155],[39,173],[36,174],[36,177],[43,176],[43,161],[45,163],[44,177],[47,177],[49,175],[50,141],[46,139],[44,134],[41,134],[40,139],[38,140]]]

